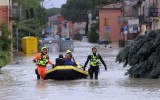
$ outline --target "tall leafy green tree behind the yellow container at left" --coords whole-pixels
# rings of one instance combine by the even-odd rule
[[[19,20],[13,22],[13,46],[16,47],[16,28],[18,28],[19,51],[22,50],[21,40],[23,37],[37,36],[40,33],[41,5],[40,0],[13,0],[13,5],[17,3],[21,7]]]

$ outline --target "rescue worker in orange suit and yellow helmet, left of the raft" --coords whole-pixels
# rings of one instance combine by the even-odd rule
[[[51,64],[54,67],[54,64],[49,60],[49,56],[47,55],[48,49],[47,47],[41,48],[41,53],[36,54],[36,56],[33,58],[33,62],[36,63],[37,69],[37,79],[45,79],[46,74],[46,66],[47,64]]]

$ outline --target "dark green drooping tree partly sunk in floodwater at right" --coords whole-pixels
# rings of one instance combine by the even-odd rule
[[[138,36],[124,47],[116,61],[130,68],[126,75],[134,78],[158,78],[160,75],[160,30]]]

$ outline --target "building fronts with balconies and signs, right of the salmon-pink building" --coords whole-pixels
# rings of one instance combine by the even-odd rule
[[[124,20],[121,20],[121,22],[129,27],[127,40],[134,39],[139,34],[144,35],[151,30],[160,29],[160,0],[124,0],[124,9],[127,9],[126,2],[130,2],[132,7],[132,11],[122,11]],[[134,14],[126,16],[128,12],[133,12]],[[130,22],[132,23],[130,24]],[[134,32],[132,33],[130,30]]]

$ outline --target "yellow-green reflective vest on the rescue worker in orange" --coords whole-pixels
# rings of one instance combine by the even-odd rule
[[[41,55],[41,58],[37,59],[36,64],[46,67],[46,65],[48,64],[48,59],[49,59],[48,55],[46,56]]]

